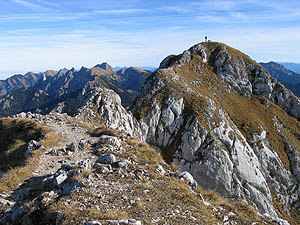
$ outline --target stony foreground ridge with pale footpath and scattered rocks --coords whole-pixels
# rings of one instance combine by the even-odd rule
[[[29,179],[0,197],[0,224],[274,224],[198,187],[147,144],[62,114],[17,115],[61,135]],[[19,119],[16,119],[19,120]],[[27,145],[26,157],[44,147]],[[3,177],[3,179],[9,179]]]

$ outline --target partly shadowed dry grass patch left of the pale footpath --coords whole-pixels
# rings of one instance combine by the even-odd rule
[[[39,162],[43,150],[34,151],[25,159],[27,143],[39,140],[46,148],[55,145],[59,136],[49,128],[29,119],[0,119],[0,168],[5,175],[0,180],[0,191],[8,192],[28,178]]]

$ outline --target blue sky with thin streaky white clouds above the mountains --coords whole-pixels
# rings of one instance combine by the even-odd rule
[[[299,0],[0,0],[0,79],[15,73],[158,66],[204,36],[256,61],[300,63]]]

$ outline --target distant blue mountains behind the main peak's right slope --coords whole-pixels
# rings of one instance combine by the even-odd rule
[[[289,88],[295,95],[300,97],[300,74],[287,69],[282,64],[276,62],[260,63],[270,75]],[[297,64],[295,64],[297,65]],[[300,66],[300,64],[299,64]]]

